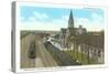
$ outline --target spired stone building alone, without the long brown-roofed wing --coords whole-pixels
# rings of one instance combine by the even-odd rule
[[[69,19],[68,19],[68,28],[67,29],[61,29],[61,44],[62,46],[67,46],[67,39],[80,35],[87,33],[87,30],[82,28],[82,25],[79,25],[79,28],[75,28],[75,21],[73,17],[73,11],[70,10]]]

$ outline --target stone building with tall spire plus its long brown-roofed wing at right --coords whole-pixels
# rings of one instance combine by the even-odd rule
[[[82,36],[82,34],[87,35],[81,39],[79,38],[80,41],[78,42],[80,43],[72,41],[78,35]],[[75,28],[73,11],[70,11],[69,14],[67,29],[61,29],[59,41],[61,46],[65,47],[64,50],[77,50],[88,55],[88,62],[90,57],[95,57],[97,63],[105,63],[105,32],[87,32],[86,28],[82,28],[82,25]]]

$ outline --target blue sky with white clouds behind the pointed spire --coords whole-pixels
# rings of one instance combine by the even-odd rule
[[[20,7],[20,27],[22,30],[59,31],[68,27],[70,10],[75,27],[82,25],[88,31],[105,29],[105,11],[96,8],[46,8],[46,7]]]

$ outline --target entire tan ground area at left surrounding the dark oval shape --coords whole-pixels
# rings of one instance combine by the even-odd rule
[[[32,42],[35,42],[36,57],[30,59],[28,51]],[[29,34],[21,39],[21,68],[58,66],[52,55],[45,49],[42,39]]]

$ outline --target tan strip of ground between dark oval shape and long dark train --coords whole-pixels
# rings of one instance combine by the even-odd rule
[[[43,41],[36,41],[36,43],[38,45],[40,56],[44,63],[44,66],[57,66],[57,63],[55,62],[55,60],[45,49]]]

